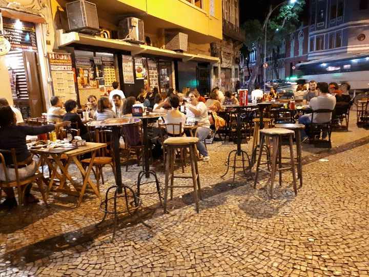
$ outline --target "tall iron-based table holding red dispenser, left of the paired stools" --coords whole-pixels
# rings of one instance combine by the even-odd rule
[[[229,154],[228,154],[228,161],[227,161],[227,171],[226,173],[224,173],[221,177],[224,177],[227,175],[229,168],[232,167],[233,168],[233,182],[235,179],[235,174],[236,174],[236,168],[242,168],[243,173],[247,174],[244,163],[244,155],[247,156],[248,158],[248,169],[249,171],[251,170],[251,164],[250,164],[250,158],[249,158],[249,154],[243,150],[241,150],[241,141],[242,141],[242,134],[241,134],[241,113],[242,113],[242,109],[244,108],[251,108],[251,107],[256,107],[257,104],[253,104],[250,103],[248,105],[223,105],[224,108],[232,108],[232,109],[236,109],[237,112],[237,150],[232,150]],[[231,155],[234,154],[234,158],[233,160],[233,166],[230,165],[230,160],[231,160]],[[242,155],[242,159],[236,159],[237,156],[241,156]],[[242,162],[242,167],[240,166],[236,166],[236,162],[237,161],[241,161]]]

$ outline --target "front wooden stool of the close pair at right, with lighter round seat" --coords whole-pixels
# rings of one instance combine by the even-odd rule
[[[257,165],[256,165],[254,188],[256,188],[259,169],[270,173],[271,174],[271,179],[270,179],[270,195],[271,195],[271,198],[273,198],[273,184],[274,184],[274,179],[275,179],[275,173],[276,173],[277,170],[278,170],[278,173],[279,173],[279,186],[281,186],[282,185],[282,170],[292,169],[293,186],[294,186],[295,195],[297,195],[296,175],[295,175],[296,174],[296,172],[295,172],[295,161],[294,161],[294,154],[293,154],[293,135],[294,135],[294,131],[284,129],[284,128],[271,128],[271,129],[263,129],[263,130],[260,131],[261,142],[260,142],[260,151],[259,151],[258,161],[257,161]],[[283,136],[288,136],[289,137],[290,157],[291,157],[290,166],[291,167],[282,168],[281,141],[282,141]],[[265,170],[263,168],[259,168],[261,155],[262,155],[262,151],[263,151],[263,145],[265,143],[266,138],[273,138],[273,153],[272,153],[272,158],[271,158],[272,171],[271,172],[268,171],[268,170]],[[278,169],[277,169],[277,162],[278,162],[278,165],[279,165]]]

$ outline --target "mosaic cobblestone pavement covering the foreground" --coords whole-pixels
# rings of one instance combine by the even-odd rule
[[[352,126],[356,140],[369,135]],[[333,134],[334,147],[346,142],[347,133]],[[14,212],[0,214],[0,276],[369,276],[368,144],[331,155],[304,145],[307,160],[329,156],[307,161],[297,196],[284,174],[274,199],[262,177],[255,190],[241,174],[233,185],[220,178],[234,148],[210,145],[211,162],[199,164],[199,214],[190,189],[175,189],[170,214],[145,195],[142,216],[152,228],[124,221],[114,242],[111,221],[95,228],[102,214],[92,194],[75,208],[74,197],[52,193],[50,207],[30,207],[23,224]],[[139,170],[123,171],[124,183],[134,186]],[[114,183],[108,169],[106,179],[102,192]]]

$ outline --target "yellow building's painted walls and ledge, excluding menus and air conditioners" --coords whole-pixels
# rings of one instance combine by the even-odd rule
[[[34,47],[32,51],[35,51],[36,55],[35,67],[37,67],[39,80],[38,87],[43,95],[43,100],[40,103],[43,102],[43,105],[38,110],[30,108],[32,116],[40,115],[40,110],[45,112],[50,106],[50,98],[57,95],[55,92],[56,82],[53,80],[53,74],[50,70],[48,53],[69,53],[72,57],[85,55],[91,59],[97,52],[114,55],[116,81],[120,83],[123,90],[127,90],[128,95],[137,95],[141,87],[147,86],[147,81],[137,82],[135,78],[133,84],[126,84],[126,78],[125,76],[122,77],[121,69],[118,68],[119,63],[121,63],[120,54],[132,56],[133,61],[135,61],[135,58],[144,58],[142,61],[153,58],[157,63],[159,73],[161,66],[165,64],[170,72],[165,78],[169,79],[170,87],[177,90],[181,90],[183,87],[199,88],[198,80],[201,79],[202,83],[206,82],[204,79],[207,72],[210,76],[212,65],[219,63],[218,57],[211,56],[210,44],[220,42],[222,39],[221,0],[89,1],[96,4],[99,28],[108,30],[111,34],[110,37],[102,37],[99,33],[90,35],[69,32],[66,3],[71,1],[40,0],[37,5],[34,5],[34,3],[29,3],[28,0],[18,0],[17,2],[20,5],[14,3],[14,5],[9,5],[11,2],[0,0],[0,8],[7,8],[10,11],[5,16],[11,17],[16,22],[19,19],[21,22],[32,22],[35,26],[37,47]],[[124,17],[137,17],[144,22],[146,38],[144,44],[122,42],[117,39],[116,33],[119,30],[119,21]],[[188,35],[187,51],[166,49],[166,32],[173,30]],[[25,58],[25,55],[23,56]],[[25,62],[27,63],[26,60]],[[0,70],[7,72],[9,70],[9,58],[7,63],[6,56],[0,57],[0,65]],[[73,68],[78,79],[79,71],[74,61]],[[27,77],[27,74],[29,77]],[[31,72],[25,72],[25,75],[27,80],[32,77]],[[15,103],[25,102],[16,99],[16,95],[19,93],[14,91],[14,87],[16,87],[14,80],[8,80],[8,76],[2,74],[0,81],[5,84],[1,96],[6,97],[10,103],[13,100]],[[160,82],[158,83],[160,87]],[[110,84],[106,84],[107,87],[108,85]],[[166,90],[168,90],[167,87]],[[79,101],[81,106],[84,105],[86,95],[90,92],[89,90],[84,91],[84,89],[82,87],[78,88],[76,85],[76,100]],[[107,89],[109,88],[105,89],[105,93]],[[211,79],[209,77],[208,86],[202,85],[201,90],[206,93],[210,89]],[[29,88],[29,91],[31,94],[31,91],[37,91],[37,88]],[[100,94],[104,94],[104,91],[97,87],[95,90],[91,89],[91,93],[100,96]],[[64,100],[68,100],[69,95],[71,94],[67,94]],[[35,103],[37,95],[32,97],[30,95],[30,107],[32,107],[31,98]]]

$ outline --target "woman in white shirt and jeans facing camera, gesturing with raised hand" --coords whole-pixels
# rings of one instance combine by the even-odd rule
[[[204,103],[198,101],[199,96],[197,91],[190,91],[187,93],[189,99],[189,102],[186,103],[187,118],[197,121],[198,127],[196,133],[199,141],[196,146],[203,155],[202,161],[209,161],[210,157],[208,151],[202,141],[210,134],[210,121],[208,117],[208,108]]]

